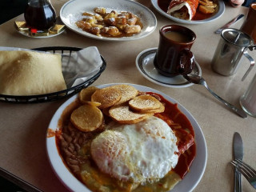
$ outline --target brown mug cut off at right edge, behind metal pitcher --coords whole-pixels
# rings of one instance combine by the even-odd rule
[[[246,21],[242,24],[240,30],[250,35],[256,43],[256,3],[250,4]]]

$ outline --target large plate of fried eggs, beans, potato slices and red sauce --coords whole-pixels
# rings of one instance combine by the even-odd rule
[[[71,191],[188,192],[206,169],[198,122],[146,86],[89,86],[60,106],[46,134],[50,164]]]

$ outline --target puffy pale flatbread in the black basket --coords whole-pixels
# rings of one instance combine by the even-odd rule
[[[0,94],[38,95],[65,90],[61,57],[35,51],[0,51]]]

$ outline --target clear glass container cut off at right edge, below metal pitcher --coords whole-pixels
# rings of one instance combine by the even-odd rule
[[[247,114],[256,118],[256,74],[246,92],[240,98],[240,105]]]

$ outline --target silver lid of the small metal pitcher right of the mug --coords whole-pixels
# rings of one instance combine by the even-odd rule
[[[233,28],[222,30],[222,38],[236,46],[250,46],[253,43],[248,34]]]

